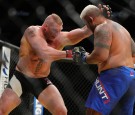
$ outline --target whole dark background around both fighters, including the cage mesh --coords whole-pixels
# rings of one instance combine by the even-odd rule
[[[83,26],[79,18],[81,10],[88,4],[98,3],[109,4],[113,11],[112,19],[127,28],[135,38],[135,0],[0,0],[0,48],[6,46],[11,49],[10,76],[18,60],[20,39],[28,26],[41,25],[46,16],[57,13],[63,20],[63,30],[70,31]],[[76,46],[80,45],[91,52],[93,36]],[[49,78],[60,90],[68,115],[85,115],[84,103],[96,77],[96,65],[78,66],[64,60],[52,64]],[[29,93],[22,95],[22,104],[10,114],[34,115],[33,99]],[[117,110],[112,114],[116,115]],[[44,115],[50,113],[44,109]]]

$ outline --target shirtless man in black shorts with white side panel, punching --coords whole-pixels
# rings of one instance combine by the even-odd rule
[[[107,14],[109,16],[109,12]],[[61,18],[52,14],[42,26],[26,29],[21,39],[16,70],[0,99],[0,115],[7,115],[17,107],[21,103],[20,96],[26,90],[34,94],[53,115],[67,115],[62,96],[47,78],[50,66],[53,61],[72,57],[72,51],[61,51],[66,45],[76,44],[93,33],[87,26],[70,32],[61,31],[62,26]]]

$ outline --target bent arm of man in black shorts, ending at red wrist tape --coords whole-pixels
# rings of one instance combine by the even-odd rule
[[[49,47],[47,42],[44,40],[41,30],[34,26],[29,27],[25,31],[25,36],[36,54],[42,60],[59,60],[66,57],[65,51],[59,51],[52,47]]]

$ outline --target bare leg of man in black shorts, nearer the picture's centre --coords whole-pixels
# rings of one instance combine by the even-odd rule
[[[39,102],[53,115],[67,115],[67,109],[58,89],[49,85],[38,96]]]

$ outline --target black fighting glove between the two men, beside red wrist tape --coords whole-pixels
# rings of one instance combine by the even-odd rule
[[[73,50],[73,61],[77,64],[86,64],[86,51],[83,47],[75,47]]]

